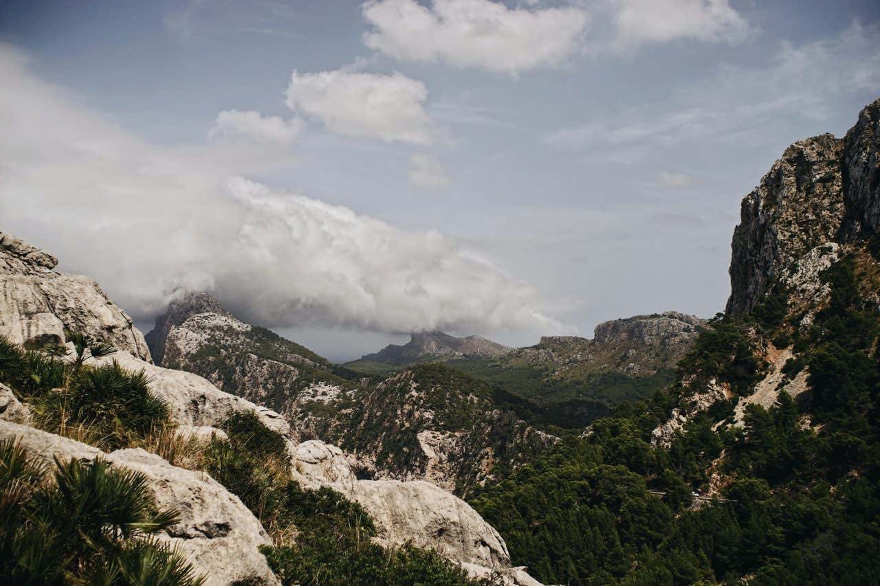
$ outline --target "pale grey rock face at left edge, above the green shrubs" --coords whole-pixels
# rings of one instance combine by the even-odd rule
[[[50,254],[0,232],[0,335],[19,344],[62,342],[67,328],[151,362],[143,335],[98,283],[58,273],[56,264]]]

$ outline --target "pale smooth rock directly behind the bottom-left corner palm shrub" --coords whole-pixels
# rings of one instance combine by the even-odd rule
[[[260,553],[260,545],[271,545],[266,531],[238,496],[229,493],[204,472],[168,464],[141,449],[116,450],[109,454],[84,443],[55,436],[39,429],[0,421],[0,439],[18,438],[21,445],[48,464],[52,459],[105,458],[146,476],[160,509],[177,509],[180,522],[158,538],[180,547],[210,586],[251,581],[278,584]]]

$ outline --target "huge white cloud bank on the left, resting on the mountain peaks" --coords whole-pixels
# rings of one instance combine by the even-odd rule
[[[268,326],[559,330],[535,289],[436,231],[404,231],[143,142],[0,46],[0,217],[136,319],[209,289]]]

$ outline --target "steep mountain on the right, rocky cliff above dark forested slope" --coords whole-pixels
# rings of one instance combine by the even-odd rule
[[[671,385],[469,496],[514,563],[571,584],[876,582],[880,99],[745,196],[730,282]]]

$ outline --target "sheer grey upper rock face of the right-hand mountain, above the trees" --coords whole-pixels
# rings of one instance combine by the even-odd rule
[[[880,229],[880,99],[843,139],[792,144],[745,196],[733,234],[727,311],[752,311],[768,284],[788,279],[822,246],[847,244]]]

